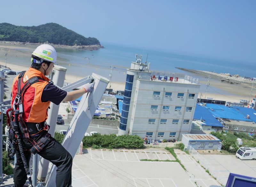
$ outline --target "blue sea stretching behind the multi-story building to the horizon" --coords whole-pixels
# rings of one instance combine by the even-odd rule
[[[57,63],[67,68],[69,75],[85,77],[92,72],[109,78],[112,67],[112,81],[124,82],[126,69],[135,61],[135,54],[141,55],[142,62],[149,65],[149,70],[160,72],[159,74],[184,73],[199,80],[205,77],[193,73],[181,71],[175,67],[213,71],[217,73],[239,74],[240,76],[256,77],[256,63],[246,61],[223,59],[218,57],[188,55],[175,52],[163,52],[157,49],[128,47],[110,43],[102,43],[104,48],[99,50],[81,50],[55,47],[57,51]],[[35,45],[8,44],[8,63],[29,66],[31,53]],[[5,49],[0,48],[0,61],[5,61]],[[201,86],[200,90],[204,90]],[[220,91],[225,94],[225,91]]]

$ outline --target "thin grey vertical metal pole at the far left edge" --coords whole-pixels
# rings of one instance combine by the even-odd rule
[[[4,101],[4,71],[0,71],[0,103]],[[1,106],[0,106],[1,107]],[[1,107],[0,116],[0,180],[3,179],[3,111]]]

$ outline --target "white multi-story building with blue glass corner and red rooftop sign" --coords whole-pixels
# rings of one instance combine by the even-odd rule
[[[191,130],[199,87],[198,79],[155,74],[136,59],[127,69],[118,134],[181,140]]]

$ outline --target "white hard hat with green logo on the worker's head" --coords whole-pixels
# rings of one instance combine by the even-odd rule
[[[56,64],[56,59],[57,59],[57,53],[54,47],[52,47],[49,44],[42,44],[39,45],[32,55],[35,55],[39,58],[42,58],[43,60],[53,62]]]

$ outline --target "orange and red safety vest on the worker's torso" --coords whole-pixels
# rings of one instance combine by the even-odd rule
[[[29,68],[28,71],[25,72],[22,80],[22,84],[26,83],[28,79],[32,77],[40,77],[45,81],[40,81],[32,84],[28,87],[25,91],[23,96],[23,114],[22,118],[25,122],[32,122],[32,123],[41,123],[46,121],[47,119],[47,109],[50,106],[51,101],[42,102],[41,96],[44,90],[44,87],[48,84],[47,81],[50,81],[47,77],[43,75],[41,71],[38,71],[34,68]],[[15,99],[17,93],[17,85],[18,85],[18,76],[16,76],[12,82],[12,103]]]

